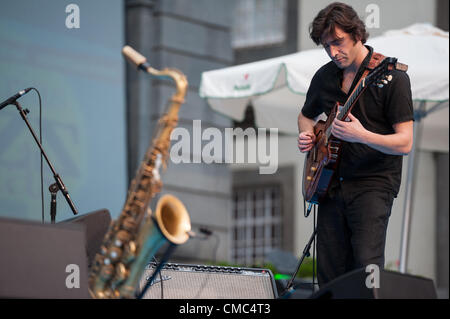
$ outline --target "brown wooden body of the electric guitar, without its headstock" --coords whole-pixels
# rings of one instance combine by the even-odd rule
[[[326,131],[331,130],[338,107],[336,103],[327,120],[314,126],[316,144],[306,155],[303,167],[303,197],[309,203],[319,204],[337,167],[341,142],[333,136],[327,138]]]

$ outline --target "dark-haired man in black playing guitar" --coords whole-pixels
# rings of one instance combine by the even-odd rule
[[[314,75],[298,117],[298,147],[316,142],[315,118],[343,105],[373,55],[368,34],[354,9],[332,3],[310,26],[332,61]],[[368,87],[346,120],[335,119],[332,135],[341,140],[340,158],[326,195],[319,202],[317,262],[319,285],[351,270],[384,266],[386,231],[397,196],[402,155],[413,143],[413,106],[409,77],[392,71],[385,88]]]

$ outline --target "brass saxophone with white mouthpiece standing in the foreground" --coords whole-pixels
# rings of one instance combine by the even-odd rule
[[[170,134],[178,123],[187,79],[176,69],[159,71],[152,68],[144,56],[129,46],[125,46],[122,53],[150,75],[172,79],[176,92],[167,112],[160,118],[156,135],[130,184],[122,212],[112,222],[95,257],[89,274],[89,292],[93,298],[134,298],[150,258],[164,243],[175,246],[186,242],[191,230],[189,214],[176,197],[161,197],[154,214],[148,208],[150,200],[162,187],[159,170],[167,163]]]

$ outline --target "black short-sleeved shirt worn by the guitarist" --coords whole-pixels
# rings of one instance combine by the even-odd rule
[[[373,53],[361,64],[353,84],[346,94],[341,89],[343,71],[333,61],[322,66],[314,75],[302,108],[304,116],[313,119],[325,112],[329,115],[339,102],[343,105],[358,83]],[[411,84],[405,72],[393,70],[393,79],[383,88],[368,87],[351,113],[369,131],[377,134],[395,133],[393,124],[414,119]],[[342,142],[337,180],[349,181],[358,188],[381,189],[397,195],[400,188],[402,156],[389,155],[365,144]]]

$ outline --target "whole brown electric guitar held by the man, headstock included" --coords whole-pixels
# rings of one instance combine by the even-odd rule
[[[309,203],[308,213],[312,204],[319,204],[327,193],[331,178],[337,168],[341,141],[331,134],[331,125],[336,118],[345,121],[348,114],[369,85],[383,87],[392,80],[389,74],[392,70],[406,72],[408,66],[397,62],[396,58],[384,57],[373,53],[365,73],[361,76],[351,95],[343,106],[336,103],[326,121],[318,121],[314,126],[316,143],[306,155],[303,168],[303,197]]]

